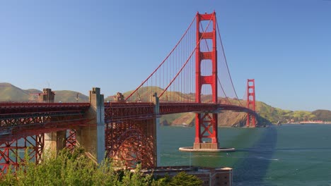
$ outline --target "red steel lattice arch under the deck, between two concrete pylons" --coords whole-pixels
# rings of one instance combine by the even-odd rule
[[[106,123],[105,139],[106,156],[115,161],[115,166],[134,168],[137,163],[143,168],[156,166],[155,119]]]

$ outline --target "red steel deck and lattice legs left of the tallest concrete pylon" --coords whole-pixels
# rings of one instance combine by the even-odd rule
[[[1,103],[0,170],[16,168],[24,161],[28,147],[30,159],[42,159],[44,134],[86,125],[84,113],[90,104]]]

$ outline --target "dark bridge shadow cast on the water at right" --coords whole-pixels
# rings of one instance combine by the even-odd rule
[[[250,129],[248,129],[250,130]],[[254,129],[253,129],[254,130]],[[265,128],[261,137],[250,148],[238,149],[245,153],[245,159],[234,165],[235,185],[267,185],[264,178],[277,144],[277,128]],[[268,183],[268,185],[270,185]]]

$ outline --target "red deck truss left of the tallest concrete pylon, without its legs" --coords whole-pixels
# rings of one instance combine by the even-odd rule
[[[57,128],[84,125],[90,104],[5,103],[0,104],[0,144]]]

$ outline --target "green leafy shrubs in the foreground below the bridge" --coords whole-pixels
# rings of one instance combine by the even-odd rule
[[[186,173],[154,179],[140,171],[140,164],[134,171],[115,171],[109,159],[96,165],[82,149],[74,153],[64,150],[57,156],[46,153],[45,157],[38,165],[21,162],[16,173],[8,171],[4,175],[0,185],[202,185],[202,180]],[[25,159],[28,159],[28,153]]]

